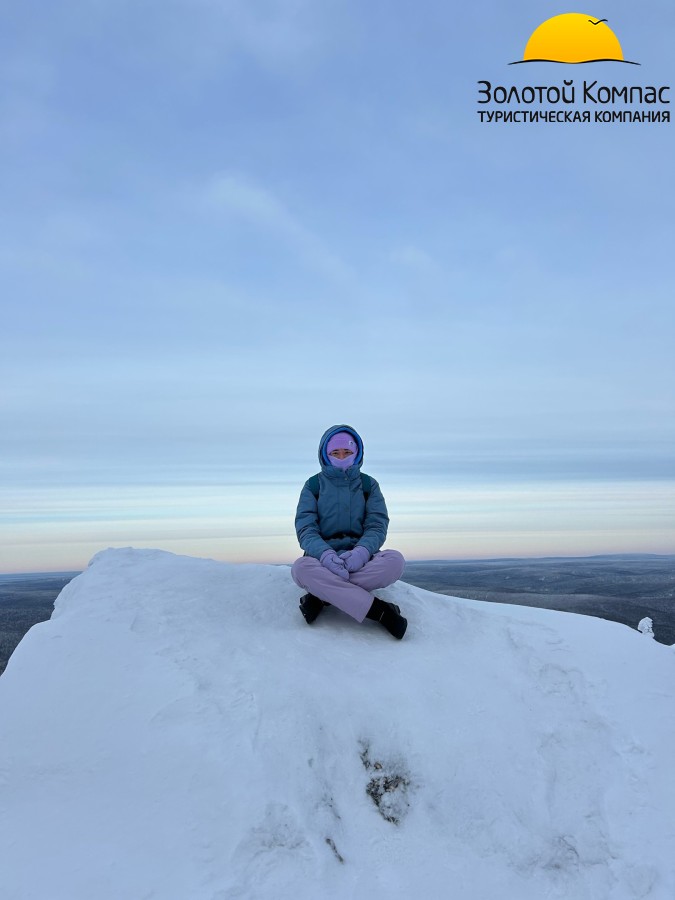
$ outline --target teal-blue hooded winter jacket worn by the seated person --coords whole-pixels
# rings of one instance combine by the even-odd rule
[[[354,463],[348,469],[331,465],[326,444],[338,431],[348,431],[358,445]],[[300,492],[295,514],[295,532],[305,556],[321,558],[324,550],[337,553],[352,550],[357,544],[371,556],[377,553],[387,537],[389,516],[380,486],[370,477],[370,493],[366,500],[361,482],[363,441],[349,425],[329,428],[319,443],[319,498],[308,487]]]

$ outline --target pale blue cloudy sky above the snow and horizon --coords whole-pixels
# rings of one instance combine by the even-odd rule
[[[675,126],[476,112],[675,82],[665,2],[586,10],[640,67],[507,65],[566,11],[4,10],[0,571],[291,561],[336,422],[410,558],[672,552]]]

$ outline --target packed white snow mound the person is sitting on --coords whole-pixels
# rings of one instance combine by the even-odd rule
[[[0,678],[3,900],[675,898],[675,652],[399,582],[110,550]]]

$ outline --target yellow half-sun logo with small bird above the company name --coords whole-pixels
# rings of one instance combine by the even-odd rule
[[[532,32],[523,58],[509,65],[526,62],[640,63],[623,58],[619,39],[607,25],[607,19],[595,19],[584,13],[562,13],[542,22]]]

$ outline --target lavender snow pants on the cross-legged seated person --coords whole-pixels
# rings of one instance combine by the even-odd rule
[[[357,622],[363,622],[373,603],[368,591],[387,587],[403,574],[405,559],[398,550],[382,550],[358,572],[351,572],[349,581],[329,572],[313,556],[301,556],[291,568],[291,576],[298,587],[320,600],[337,606]]]

